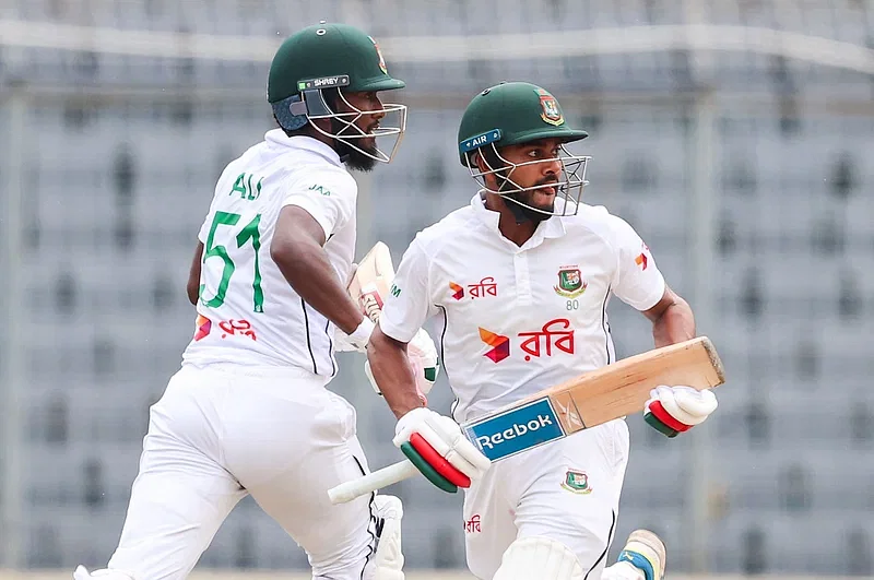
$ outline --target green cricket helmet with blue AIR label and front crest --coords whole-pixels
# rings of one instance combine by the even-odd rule
[[[589,133],[568,127],[562,106],[548,91],[523,82],[504,82],[486,88],[468,105],[458,131],[459,156],[480,186],[491,193],[497,193],[522,208],[547,215],[575,215],[582,197],[586,168],[591,157],[574,155],[565,144],[580,141]],[[533,191],[542,186],[522,187],[512,180],[516,168],[536,163],[553,163],[555,158],[512,163],[500,154],[508,145],[519,145],[541,139],[557,139],[560,143],[558,161],[562,175],[558,176],[557,197],[564,202],[556,204],[552,212],[533,208],[519,200],[519,194]],[[476,156],[486,166],[481,170]],[[486,184],[485,177],[497,178],[497,189]],[[560,206],[559,206],[560,205]]]

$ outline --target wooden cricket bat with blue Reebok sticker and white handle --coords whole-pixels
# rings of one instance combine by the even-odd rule
[[[584,372],[461,426],[464,436],[492,461],[500,461],[625,415],[640,413],[650,390],[684,384],[704,390],[725,381],[722,362],[707,336],[654,348]],[[328,492],[345,504],[414,476],[401,461]]]

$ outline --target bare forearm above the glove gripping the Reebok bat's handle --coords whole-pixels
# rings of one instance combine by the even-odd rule
[[[422,406],[415,377],[406,356],[406,344],[382,333],[377,325],[367,344],[370,372],[392,413],[401,418]]]

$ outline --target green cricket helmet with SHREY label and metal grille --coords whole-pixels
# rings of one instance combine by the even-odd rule
[[[385,104],[381,109],[363,111],[352,106],[343,92],[367,93],[403,87],[403,81],[389,74],[374,38],[347,24],[321,22],[293,34],[280,46],[270,64],[267,99],[283,129],[295,131],[312,119],[332,119],[330,132],[311,125],[320,133],[339,139],[370,158],[389,163],[406,129],[406,107]],[[332,96],[326,98],[328,90],[336,90],[331,93],[339,95],[349,113],[332,108],[336,107],[336,102]],[[387,127],[380,121],[370,133],[355,125],[364,115],[376,113],[395,114],[397,123]],[[391,152],[385,153],[377,147],[374,153],[355,144],[357,140],[369,137],[394,137]]]

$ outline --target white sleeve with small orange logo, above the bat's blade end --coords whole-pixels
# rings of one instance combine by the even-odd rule
[[[617,253],[613,294],[638,310],[648,310],[664,295],[664,276],[656,265],[649,248],[628,222],[621,217],[611,217],[614,220]]]

